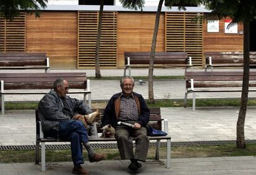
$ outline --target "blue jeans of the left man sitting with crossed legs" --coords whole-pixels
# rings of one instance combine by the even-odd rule
[[[82,143],[88,142],[88,134],[87,129],[83,126],[81,121],[60,121],[59,131],[56,129],[51,129],[46,135],[49,137],[69,140],[74,166],[83,164]]]

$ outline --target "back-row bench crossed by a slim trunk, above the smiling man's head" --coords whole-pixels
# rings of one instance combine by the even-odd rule
[[[150,52],[124,52],[124,76],[126,70],[131,68],[148,68]],[[187,57],[187,52],[156,52],[155,68],[188,68],[192,67],[192,58]]]

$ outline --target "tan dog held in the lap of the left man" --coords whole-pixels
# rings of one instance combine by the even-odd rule
[[[85,128],[89,128],[89,125],[93,125],[95,122],[100,123],[101,122],[101,115],[99,110],[96,110],[93,113],[90,113],[88,115],[75,115],[72,118],[73,120],[80,120],[82,121],[83,125],[85,126]]]

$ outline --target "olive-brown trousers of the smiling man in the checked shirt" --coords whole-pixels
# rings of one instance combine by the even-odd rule
[[[149,147],[146,128],[134,129],[126,126],[117,126],[115,137],[121,159],[134,158],[146,161]],[[135,139],[135,152],[133,150],[132,138]]]

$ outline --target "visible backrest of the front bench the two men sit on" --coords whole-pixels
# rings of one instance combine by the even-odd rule
[[[92,109],[92,110],[95,111],[96,109]],[[101,115],[103,115],[105,108],[98,108],[98,110],[100,111]],[[35,113],[36,113],[36,123],[37,123],[37,121],[39,121],[38,110],[36,110]],[[148,125],[154,129],[158,129],[158,130],[162,129],[160,108],[150,108],[150,121]],[[97,126],[98,133],[102,133],[102,130],[100,129],[101,128],[100,123],[97,123],[96,126]],[[39,127],[36,124],[36,134],[39,135],[39,132],[40,132]]]

